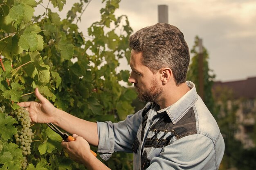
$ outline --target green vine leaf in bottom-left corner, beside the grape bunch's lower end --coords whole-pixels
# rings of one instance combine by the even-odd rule
[[[20,160],[22,159],[22,150],[18,148],[18,145],[13,143],[3,143],[3,148],[0,152],[0,164],[4,164],[6,166],[13,166],[13,163],[20,165]],[[14,168],[14,170],[18,170],[19,168]]]

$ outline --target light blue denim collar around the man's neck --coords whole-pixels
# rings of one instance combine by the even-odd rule
[[[163,108],[157,113],[162,113],[166,111],[168,116],[171,118],[173,124],[176,124],[193,106],[195,101],[198,99],[198,94],[195,90],[195,84],[190,81],[186,81],[186,84],[191,89],[184,96],[182,96],[175,104],[168,106],[167,108]]]

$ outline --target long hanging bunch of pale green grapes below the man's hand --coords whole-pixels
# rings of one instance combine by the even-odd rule
[[[14,135],[16,144],[20,146],[22,150],[22,154],[24,156],[22,160],[22,169],[26,169],[27,167],[27,159],[26,156],[31,154],[31,143],[32,139],[34,139],[34,132],[32,132],[31,121],[29,117],[29,112],[20,107],[18,110],[11,111],[11,115],[14,115],[14,118],[18,120],[19,125],[17,128],[17,134]]]

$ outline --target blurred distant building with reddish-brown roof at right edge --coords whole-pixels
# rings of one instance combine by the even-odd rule
[[[244,148],[254,147],[252,136],[255,135],[256,77],[232,82],[215,82],[213,95],[216,99],[220,99],[220,96],[224,95],[222,99],[223,97],[227,99],[227,108],[229,109],[231,109],[232,103],[238,106],[236,108],[238,131],[235,132],[235,137],[242,142]],[[221,100],[218,103],[221,104]]]

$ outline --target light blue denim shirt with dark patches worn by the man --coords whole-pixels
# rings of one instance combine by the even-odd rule
[[[225,144],[218,125],[195,90],[161,109],[144,109],[118,123],[97,122],[102,159],[133,152],[134,170],[218,170]]]

